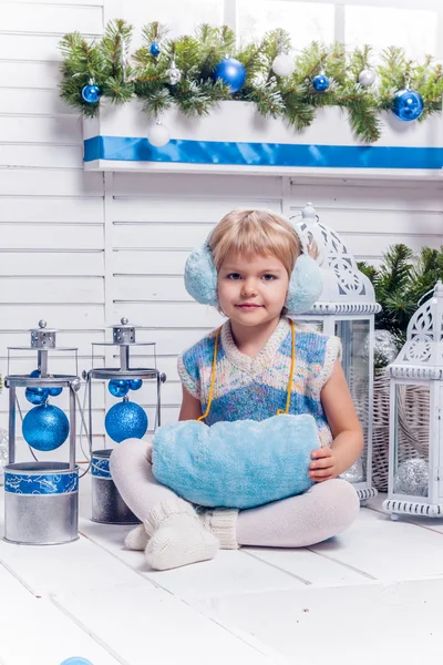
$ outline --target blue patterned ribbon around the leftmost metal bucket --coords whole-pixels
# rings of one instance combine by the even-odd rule
[[[72,494],[79,491],[79,473],[4,473],[4,491],[11,494]]]

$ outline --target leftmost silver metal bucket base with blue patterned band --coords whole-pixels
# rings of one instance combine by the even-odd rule
[[[79,470],[64,462],[4,468],[4,540],[61,545],[79,538]]]

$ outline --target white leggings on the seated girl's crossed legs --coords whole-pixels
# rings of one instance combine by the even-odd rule
[[[152,446],[126,439],[111,456],[113,480],[128,508],[144,521],[159,501],[176,494],[152,471]],[[237,519],[239,545],[303,548],[341,533],[357,518],[360,502],[353,487],[334,479],[316,483],[305,494],[243,510]]]

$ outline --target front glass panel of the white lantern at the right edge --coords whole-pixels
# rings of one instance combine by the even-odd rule
[[[427,497],[430,387],[398,383],[393,422],[393,492]]]

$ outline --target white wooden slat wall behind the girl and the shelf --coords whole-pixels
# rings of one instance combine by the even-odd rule
[[[91,342],[110,339],[107,327],[126,316],[141,326],[140,341],[157,342],[168,422],[181,401],[176,355],[219,320],[187,296],[184,263],[227,211],[295,214],[311,201],[358,258],[378,262],[392,243],[413,249],[443,243],[442,191],[385,181],[84,174],[81,122],[58,96],[56,43],[71,30],[100,34],[102,4],[0,1],[0,372],[7,372],[7,347],[28,345],[28,329],[41,318],[60,329],[61,346],[79,347],[79,370],[89,369]],[[34,367],[21,355],[10,369]],[[52,368],[70,372],[72,360],[60,354]],[[93,397],[100,448],[111,397],[100,383]],[[153,387],[136,397],[153,417]],[[65,396],[54,403],[65,407]]]

